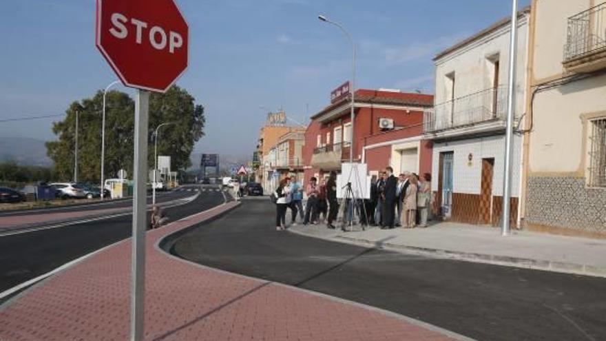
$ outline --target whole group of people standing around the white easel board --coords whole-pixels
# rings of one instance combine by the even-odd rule
[[[370,186],[370,200],[361,200],[366,213],[361,221],[364,224],[381,226],[382,229],[393,227],[412,228],[417,225],[427,226],[430,198],[431,175],[422,176],[405,172],[395,176],[393,168],[386,167],[384,172],[373,176]],[[303,209],[303,194],[307,202]],[[324,223],[335,229],[335,220],[339,212],[337,200],[337,174],[331,172],[328,180],[312,177],[303,188],[294,176],[280,180],[273,194],[276,204],[275,226],[278,231],[286,229],[286,213],[291,210],[291,224],[297,224],[297,214],[304,225]]]

